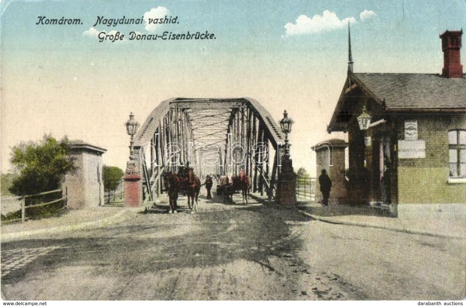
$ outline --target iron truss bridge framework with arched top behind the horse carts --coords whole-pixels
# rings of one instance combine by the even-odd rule
[[[274,198],[285,136],[250,98],[172,98],[161,102],[134,137],[144,200],[164,192],[165,170],[189,165],[199,177],[251,177],[253,192]]]

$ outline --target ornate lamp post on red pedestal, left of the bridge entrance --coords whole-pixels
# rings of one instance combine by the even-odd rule
[[[139,207],[142,203],[142,186],[141,177],[139,176],[139,166],[137,157],[134,153],[134,135],[137,132],[139,123],[134,120],[133,113],[130,113],[130,119],[124,124],[126,132],[131,136],[130,139],[130,160],[126,163],[126,175],[124,180],[124,206]]]

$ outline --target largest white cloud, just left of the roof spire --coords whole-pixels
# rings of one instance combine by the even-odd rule
[[[349,23],[356,23],[354,17],[347,17],[340,20],[335,12],[329,10],[323,11],[322,15],[315,15],[309,18],[306,15],[300,15],[296,23],[288,22],[285,25],[285,36],[294,36],[302,34],[315,34],[324,31],[332,31],[346,27]]]

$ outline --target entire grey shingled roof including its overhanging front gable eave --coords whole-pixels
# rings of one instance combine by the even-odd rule
[[[347,118],[342,113],[344,104],[356,87],[384,106],[386,112],[466,112],[466,74],[446,78],[436,74],[349,72],[327,128],[329,133],[346,130],[347,122],[339,121],[339,117]]]

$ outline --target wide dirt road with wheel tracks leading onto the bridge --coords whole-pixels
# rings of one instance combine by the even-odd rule
[[[424,266],[412,266],[408,271],[418,273],[406,273],[412,262],[408,255],[424,252],[422,259],[432,262],[440,252],[432,250],[441,247],[451,265],[464,266],[460,242],[451,242],[452,248],[432,237],[425,241],[416,235],[332,226],[310,221],[295,209],[203,199],[195,214],[185,206],[178,214],[166,210],[129,211],[131,218],[111,226],[2,243],[4,296],[347,300],[419,299],[430,292],[430,298],[453,299],[457,289],[429,279],[432,274],[419,270]],[[409,242],[395,244],[390,251],[389,243],[400,237],[417,242],[412,247]],[[421,243],[423,249],[413,251]],[[384,260],[383,252],[391,258]],[[449,285],[458,285],[464,274],[447,264],[436,269],[446,270]],[[386,284],[390,286],[377,289]]]

